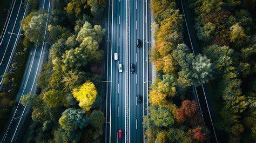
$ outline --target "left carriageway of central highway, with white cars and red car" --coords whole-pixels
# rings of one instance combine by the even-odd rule
[[[126,1],[110,1],[109,3],[109,55],[107,61],[107,86],[109,118],[106,128],[106,142],[125,142],[125,91],[126,91]],[[118,60],[113,54],[118,53]],[[118,72],[118,64],[122,64],[123,72]],[[122,138],[118,138],[118,130],[122,130]]]

